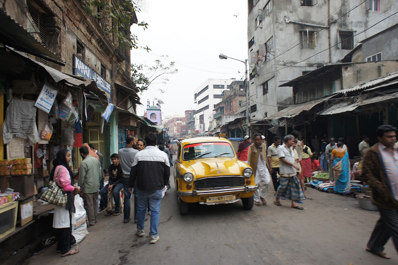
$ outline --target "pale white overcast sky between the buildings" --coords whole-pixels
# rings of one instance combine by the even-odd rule
[[[145,31],[133,25],[139,45],[152,50],[131,51],[131,62],[153,66],[161,55],[176,62],[178,72],[168,76],[167,84],[155,84],[140,94],[137,114],[143,115],[146,101],[164,101],[164,116],[195,109],[193,91],[209,78],[244,78],[244,63],[220,60],[223,53],[232,58],[247,58],[247,1],[243,0],[146,0],[139,22],[148,23]],[[238,14],[237,17],[234,15]],[[240,72],[240,73],[239,73]],[[158,92],[158,88],[166,93]]]

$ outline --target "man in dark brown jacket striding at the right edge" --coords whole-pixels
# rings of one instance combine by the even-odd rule
[[[396,128],[377,127],[378,143],[363,157],[362,178],[372,188],[372,203],[380,211],[380,219],[369,239],[366,250],[385,259],[384,245],[392,237],[398,251],[398,148]]]

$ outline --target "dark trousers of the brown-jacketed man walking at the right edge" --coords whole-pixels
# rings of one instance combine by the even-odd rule
[[[398,210],[380,209],[380,219],[377,221],[368,242],[368,247],[375,251],[383,251],[384,245],[392,237],[395,249],[398,251]]]

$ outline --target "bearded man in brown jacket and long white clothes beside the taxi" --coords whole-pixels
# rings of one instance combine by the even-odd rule
[[[250,145],[248,150],[248,164],[253,168],[254,181],[256,184],[262,182],[260,191],[256,190],[254,192],[254,203],[257,206],[261,206],[261,203],[267,205],[264,197],[269,191],[271,175],[268,170],[267,145],[263,144],[261,134],[254,134],[253,138],[254,144]]]

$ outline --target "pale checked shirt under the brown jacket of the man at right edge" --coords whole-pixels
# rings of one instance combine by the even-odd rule
[[[392,196],[398,201],[398,148],[390,149],[384,144],[378,145],[384,169],[386,170],[386,177],[390,182]]]

